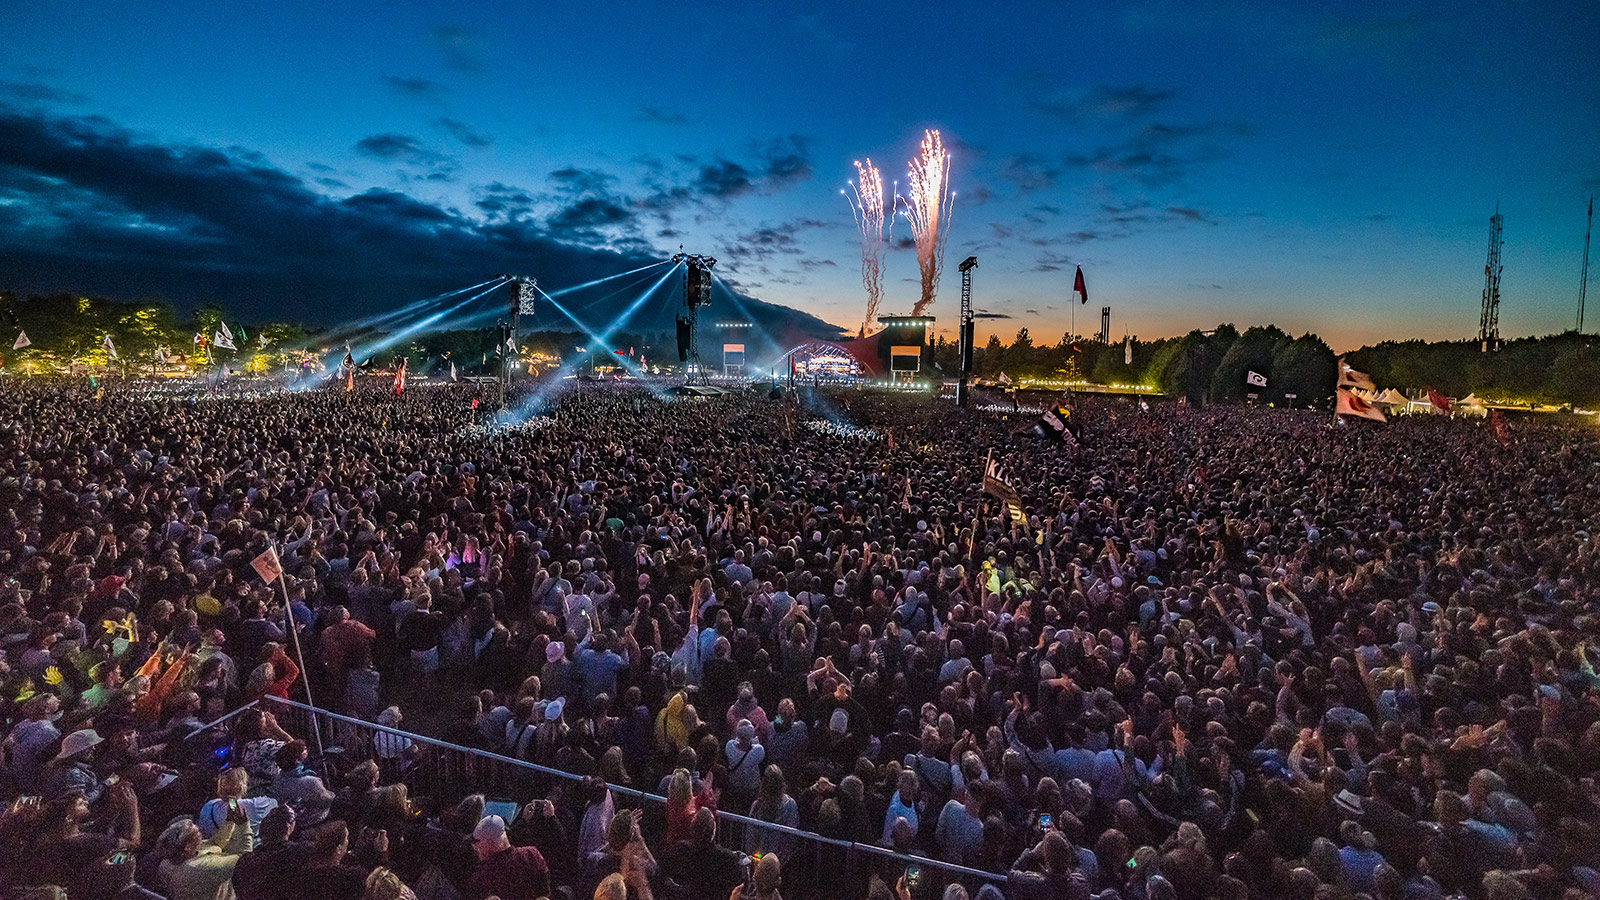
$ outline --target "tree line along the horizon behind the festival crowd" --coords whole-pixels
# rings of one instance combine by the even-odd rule
[[[125,364],[149,365],[157,348],[194,357],[195,333],[210,341],[226,325],[238,351],[214,351],[213,364],[240,370],[272,368],[296,352],[342,357],[346,341],[360,348],[381,336],[307,328],[298,322],[246,320],[218,304],[181,314],[166,301],[112,301],[70,293],[27,298],[0,293],[0,322],[10,327],[6,340],[0,341],[0,367],[6,372],[107,365],[110,360],[102,349],[107,335]],[[8,349],[24,330],[32,346]],[[248,340],[242,341],[240,331]],[[448,370],[454,362],[462,375],[474,375],[496,365],[501,341],[494,328],[434,331],[357,362],[390,368],[405,356],[411,360],[411,372]],[[632,349],[635,360],[645,357],[662,365],[677,360],[669,335],[619,333],[610,343],[613,349]],[[518,338],[522,351],[562,359],[589,344],[590,338],[582,331],[541,330]],[[960,368],[954,341],[939,338],[933,357],[947,375]],[[1451,397],[1477,394],[1502,404],[1590,408],[1600,404],[1600,340],[1578,331],[1518,338],[1490,352],[1483,352],[1477,341],[1382,341],[1346,354],[1346,360],[1371,375],[1381,388],[1432,388]],[[1275,325],[1240,331],[1232,323],[1222,323],[1173,338],[1130,340],[1126,344],[1106,344],[1082,335],[1062,335],[1054,344],[1035,343],[1024,327],[1010,343],[990,335],[987,344],[974,349],[973,364],[981,376],[1003,372],[1011,378],[1147,384],[1166,394],[1218,402],[1238,400],[1246,394],[1256,394],[1262,402],[1282,402],[1293,394],[1298,405],[1306,405],[1331,399],[1336,356],[1315,333],[1293,336]],[[1248,384],[1248,372],[1266,376],[1267,386]]]

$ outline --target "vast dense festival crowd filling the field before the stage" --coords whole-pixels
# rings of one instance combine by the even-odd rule
[[[1600,898],[1587,426],[546,391],[0,383],[3,895]]]

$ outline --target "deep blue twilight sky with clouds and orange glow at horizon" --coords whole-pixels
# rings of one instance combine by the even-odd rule
[[[0,288],[336,322],[686,250],[851,331],[851,160],[957,192],[933,314],[1336,349],[1573,325],[1600,3],[74,3],[0,8]],[[894,237],[909,227],[896,223]],[[917,267],[888,258],[886,312]],[[1600,303],[1600,298],[1597,298]],[[1600,320],[1600,312],[1589,319]]]

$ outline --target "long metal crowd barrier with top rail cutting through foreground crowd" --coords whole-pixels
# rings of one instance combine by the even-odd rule
[[[413,796],[429,798],[440,804],[454,804],[469,794],[485,794],[490,799],[509,799],[520,806],[544,798],[555,780],[581,780],[581,775],[549,765],[390,729],[277,697],[262,697],[242,706],[216,722],[195,729],[189,738],[226,725],[229,719],[250,706],[270,711],[283,730],[304,738],[314,749],[317,748],[314,738],[320,737],[325,745],[325,757],[338,757],[341,767],[347,769],[368,759],[376,761],[384,770],[386,781],[403,780]],[[405,741],[424,748],[424,751],[402,769],[397,751],[405,746]],[[606,790],[611,791],[618,809],[653,812],[658,815],[654,818],[646,815],[645,822],[661,822],[659,814],[666,798],[622,785],[606,785]],[[931,830],[936,825],[936,817],[938,812],[930,812],[922,828]],[[864,895],[864,886],[870,874],[880,874],[893,884],[907,870],[920,870],[922,879],[933,879],[938,884],[966,884],[973,894],[981,884],[1005,886],[1003,874],[944,860],[899,854],[875,844],[824,838],[813,831],[787,828],[726,810],[717,810],[717,818],[720,820],[717,842],[728,849],[742,852],[746,830],[766,831],[765,842],[768,846],[787,847],[789,855],[784,857],[779,852],[779,860],[784,868],[784,897],[790,898],[846,897],[846,892],[856,887],[862,890],[859,895]],[[659,858],[664,850],[659,833],[653,833],[653,828],[646,825],[645,834]],[[931,895],[942,895],[942,887]]]

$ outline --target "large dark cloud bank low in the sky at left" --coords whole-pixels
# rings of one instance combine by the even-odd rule
[[[530,197],[494,184],[482,202],[509,210]],[[605,221],[616,213],[589,208],[587,215]],[[104,119],[0,107],[0,259],[3,287],[22,293],[219,301],[242,315],[315,325],[478,283],[494,272],[528,271],[557,285],[579,283],[659,256],[638,240],[581,247],[526,216],[483,221],[395,191],[334,199],[243,154],[150,143]],[[603,327],[618,307],[602,295],[574,295],[570,307]],[[774,333],[837,335],[813,315],[741,301],[771,320]],[[725,303],[718,291],[714,306]],[[672,312],[672,303],[662,301],[634,323],[670,327]]]

